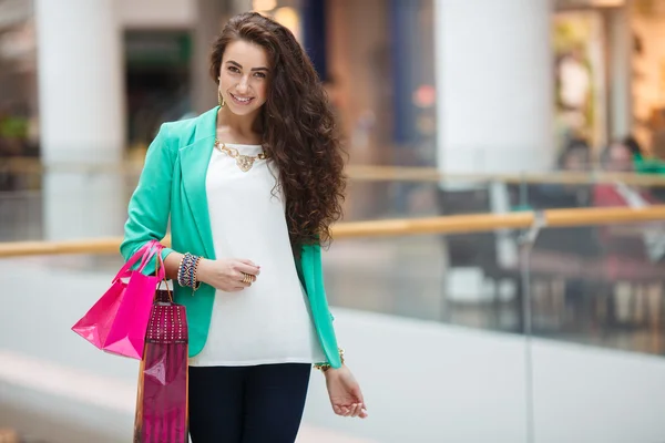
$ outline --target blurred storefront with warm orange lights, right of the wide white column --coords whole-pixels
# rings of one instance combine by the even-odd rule
[[[634,135],[654,152],[665,125],[665,1],[557,0],[556,128],[596,151]],[[665,147],[664,155],[665,155]]]

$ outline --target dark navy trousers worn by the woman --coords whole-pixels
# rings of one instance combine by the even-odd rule
[[[294,443],[311,364],[190,367],[192,443]]]

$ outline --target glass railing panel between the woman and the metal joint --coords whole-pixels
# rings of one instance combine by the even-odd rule
[[[515,233],[340,239],[324,254],[334,306],[521,332]]]

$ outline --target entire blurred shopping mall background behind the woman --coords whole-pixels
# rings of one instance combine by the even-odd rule
[[[250,9],[349,152],[324,261],[370,418],[315,373],[299,443],[665,442],[665,0],[0,0],[0,442],[130,440],[137,364],[70,327]]]

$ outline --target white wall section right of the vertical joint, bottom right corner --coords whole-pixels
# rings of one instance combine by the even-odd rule
[[[665,442],[665,359],[535,341],[538,443]]]

